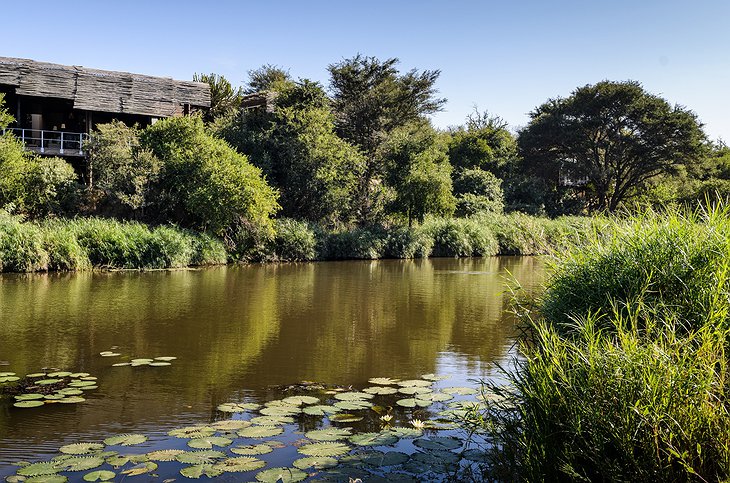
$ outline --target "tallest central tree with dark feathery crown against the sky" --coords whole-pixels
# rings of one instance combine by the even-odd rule
[[[395,58],[358,54],[328,67],[337,132],[366,156],[358,183],[363,222],[373,221],[381,208],[376,195],[384,175],[383,143],[395,129],[439,111],[446,102],[436,97],[438,70],[401,74],[397,64]]]

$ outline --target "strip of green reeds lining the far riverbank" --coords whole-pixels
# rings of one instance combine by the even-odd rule
[[[575,244],[605,223],[520,213],[431,218],[414,227],[325,230],[290,219],[275,234],[239,244],[175,226],[106,218],[24,221],[0,214],[0,271],[161,269],[228,262],[541,255]]]

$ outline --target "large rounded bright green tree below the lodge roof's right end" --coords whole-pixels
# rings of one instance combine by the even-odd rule
[[[277,193],[261,170],[196,117],[163,119],[141,134],[141,147],[163,162],[156,199],[166,221],[235,240],[241,230],[271,231]]]

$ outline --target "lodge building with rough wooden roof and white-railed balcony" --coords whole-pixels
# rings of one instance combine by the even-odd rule
[[[147,126],[210,108],[206,83],[12,57],[0,57],[0,93],[26,149],[70,158],[84,156],[97,124]]]

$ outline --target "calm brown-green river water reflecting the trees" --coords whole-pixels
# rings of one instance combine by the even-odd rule
[[[75,405],[0,399],[0,475],[76,441],[207,423],[229,401],[299,381],[494,377],[513,355],[505,282],[542,281],[537,258],[229,266],[190,271],[0,276],[1,371],[89,372]],[[119,358],[99,352],[118,346]],[[169,367],[111,367],[176,356]]]

